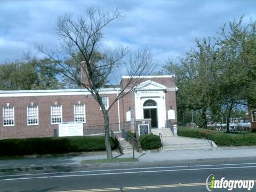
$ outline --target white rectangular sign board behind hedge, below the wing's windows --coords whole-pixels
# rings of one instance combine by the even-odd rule
[[[59,137],[83,136],[83,122],[62,122],[59,123]]]

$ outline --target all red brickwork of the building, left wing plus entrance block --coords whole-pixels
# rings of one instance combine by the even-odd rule
[[[175,91],[168,91],[168,88],[175,87],[175,79],[172,77],[165,78],[143,78],[142,82],[152,80],[167,87],[166,97],[166,117],[167,110],[176,109]],[[121,84],[127,81],[122,79]],[[117,97],[117,94],[103,94],[103,97],[109,97],[109,105]],[[0,138],[29,138],[29,137],[52,137],[54,129],[58,128],[58,125],[51,125],[51,105],[58,102],[58,105],[62,105],[62,121],[74,121],[74,105],[81,101],[81,104],[85,104],[85,118],[86,123],[84,127],[90,127],[95,125],[103,125],[103,116],[98,103],[89,94],[85,95],[60,95],[60,96],[29,96],[29,97],[1,97],[0,98]],[[39,107],[39,125],[27,126],[27,106],[31,106],[31,102],[34,102],[34,106]],[[3,127],[3,107],[6,103],[10,103],[10,106],[15,107],[15,126]],[[119,113],[120,122],[126,122],[126,112],[129,108],[134,108],[134,92],[125,95],[119,100]],[[175,113],[176,114],[176,113]],[[177,118],[177,114],[176,114]],[[118,123],[118,102],[111,107],[109,111],[109,123]],[[102,126],[101,126],[102,127]],[[95,129],[95,127],[93,127]]]

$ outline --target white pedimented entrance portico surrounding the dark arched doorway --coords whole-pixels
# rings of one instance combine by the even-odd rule
[[[136,119],[151,118],[153,128],[165,127],[166,86],[148,80],[137,86],[135,90],[135,117]]]

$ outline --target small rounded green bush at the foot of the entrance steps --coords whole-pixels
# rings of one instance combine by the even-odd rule
[[[139,141],[143,150],[158,149],[162,147],[161,139],[158,135],[141,135]]]

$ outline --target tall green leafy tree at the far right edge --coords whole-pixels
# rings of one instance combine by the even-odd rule
[[[255,58],[253,47],[255,22],[242,26],[243,18],[238,22],[229,22],[221,29],[217,38],[218,58],[218,106],[227,118],[229,132],[230,117],[233,109],[239,105],[248,105],[255,101]],[[254,79],[253,79],[254,78]]]

